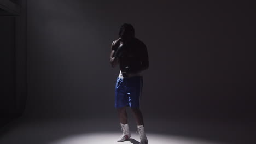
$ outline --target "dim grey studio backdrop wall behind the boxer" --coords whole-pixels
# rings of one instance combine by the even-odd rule
[[[27,1],[26,116],[114,115],[110,45],[124,22],[146,43],[147,116],[253,117],[251,3]]]

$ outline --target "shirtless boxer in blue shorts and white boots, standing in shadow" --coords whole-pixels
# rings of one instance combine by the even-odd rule
[[[131,107],[139,131],[140,144],[147,144],[144,122],[139,101],[143,86],[142,71],[148,69],[148,52],[146,45],[135,38],[132,25],[124,23],[119,31],[119,39],[113,41],[110,54],[112,67],[119,65],[120,74],[115,85],[115,108],[118,111],[123,135],[118,142],[131,137],[127,122],[126,107]]]

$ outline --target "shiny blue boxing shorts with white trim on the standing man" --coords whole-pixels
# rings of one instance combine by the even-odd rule
[[[142,94],[143,77],[134,76],[127,78],[117,78],[115,84],[115,108],[130,106],[139,108]]]

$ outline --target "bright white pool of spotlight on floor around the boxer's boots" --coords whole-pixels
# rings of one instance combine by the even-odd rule
[[[121,133],[102,132],[102,133],[90,133],[82,135],[74,135],[66,137],[65,139],[57,140],[49,144],[113,144],[117,142],[118,136]],[[147,134],[150,144],[220,144],[217,142],[211,142],[201,139],[192,139],[187,137],[160,135],[160,134]],[[132,133],[132,139],[129,141],[121,142],[122,144],[133,143],[139,144],[138,134]]]

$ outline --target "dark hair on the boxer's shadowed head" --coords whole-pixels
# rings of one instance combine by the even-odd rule
[[[119,37],[122,38],[134,38],[135,37],[135,31],[131,24],[124,23],[119,31]]]

